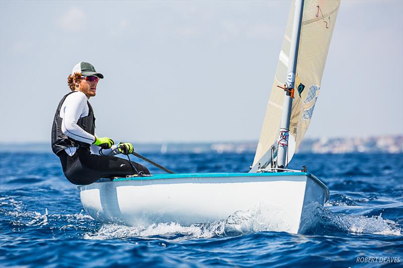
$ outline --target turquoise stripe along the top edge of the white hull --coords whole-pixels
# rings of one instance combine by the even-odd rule
[[[308,172],[262,172],[262,173],[174,173],[174,174],[154,174],[144,177],[115,178],[114,182],[120,181],[144,181],[162,180],[165,178],[189,178],[189,177],[264,177],[264,176],[311,176]]]

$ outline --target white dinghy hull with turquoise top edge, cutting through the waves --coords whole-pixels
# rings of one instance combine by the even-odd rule
[[[226,219],[234,212],[265,204],[281,210],[286,222],[277,231],[304,233],[314,222],[314,206],[328,189],[310,173],[157,174],[79,186],[84,209],[105,223],[182,226]]]

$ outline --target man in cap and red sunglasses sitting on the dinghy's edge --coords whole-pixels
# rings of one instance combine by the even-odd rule
[[[101,177],[150,174],[147,167],[114,156],[132,153],[132,144],[115,145],[112,139],[95,135],[94,111],[88,100],[95,97],[102,78],[88,62],[74,66],[68,77],[72,92],[61,99],[53,119],[52,150],[60,158],[65,177],[76,185],[92,184]]]

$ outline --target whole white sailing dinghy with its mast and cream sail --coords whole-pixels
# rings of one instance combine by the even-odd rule
[[[292,2],[253,164],[248,173],[174,173],[100,180],[79,186],[84,209],[104,223],[182,226],[223,220],[237,211],[273,208],[270,230],[304,233],[327,187],[288,163],[308,129],[340,1]]]

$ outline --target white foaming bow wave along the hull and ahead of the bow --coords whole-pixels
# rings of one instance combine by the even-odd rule
[[[360,216],[333,213],[315,204],[313,217],[316,225],[306,234],[329,235],[334,232],[401,236],[401,227],[394,221],[379,216]],[[180,241],[192,238],[238,236],[256,232],[278,231],[287,228],[287,220],[281,211],[259,205],[247,211],[237,211],[225,220],[211,223],[181,226],[178,223],[159,223],[150,226],[129,227],[103,224],[95,233],[86,233],[84,239],[104,240],[128,237],[163,238]]]

